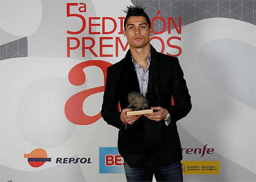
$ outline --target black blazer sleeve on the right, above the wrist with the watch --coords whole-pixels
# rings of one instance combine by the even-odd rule
[[[178,58],[175,58],[173,62],[171,91],[174,106],[168,108],[171,123],[184,118],[192,108],[191,97]]]

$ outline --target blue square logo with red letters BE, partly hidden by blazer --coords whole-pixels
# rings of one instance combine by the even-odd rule
[[[99,148],[99,173],[124,173],[124,160],[117,147]]]

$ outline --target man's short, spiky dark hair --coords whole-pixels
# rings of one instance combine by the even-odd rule
[[[148,28],[151,27],[150,19],[147,16],[146,12],[144,11],[144,8],[142,6],[127,6],[125,10],[123,10],[126,13],[126,17],[124,19],[124,29],[126,25],[126,21],[131,16],[143,16],[146,18],[146,21],[148,23]]]

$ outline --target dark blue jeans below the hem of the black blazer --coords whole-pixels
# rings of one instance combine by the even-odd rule
[[[165,167],[130,167],[124,161],[124,170],[127,181],[152,181],[153,174],[157,181],[183,181],[180,162]]]

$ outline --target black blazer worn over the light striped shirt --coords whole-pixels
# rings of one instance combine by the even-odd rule
[[[119,128],[118,150],[131,166],[146,166],[149,163],[167,166],[182,160],[182,150],[176,122],[186,116],[191,108],[191,100],[183,71],[178,58],[158,53],[150,45],[149,81],[146,98],[150,107],[166,108],[171,115],[167,126],[165,121],[155,122],[142,116],[125,129],[118,109],[127,108],[127,94],[139,92],[137,75],[130,49],[125,57],[108,67],[101,115],[108,124]],[[171,106],[171,96],[174,106]],[[155,129],[153,137],[146,134]],[[154,137],[154,135],[156,137]]]

